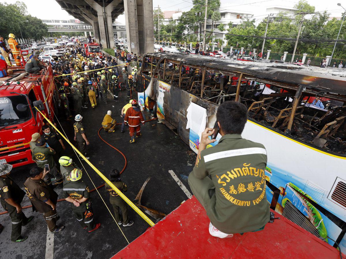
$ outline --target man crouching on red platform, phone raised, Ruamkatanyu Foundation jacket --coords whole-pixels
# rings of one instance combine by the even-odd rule
[[[270,220],[265,147],[241,136],[247,122],[244,104],[222,103],[216,119],[216,129],[206,128],[202,133],[189,175],[191,190],[210,219],[209,233],[228,238],[235,233],[263,230]],[[218,144],[206,149],[216,141],[216,130],[221,135]]]

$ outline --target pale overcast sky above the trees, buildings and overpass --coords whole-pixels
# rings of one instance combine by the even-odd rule
[[[15,3],[17,0],[4,0],[1,2]],[[74,19],[72,16],[68,15],[65,10],[61,10],[60,5],[54,0],[21,0],[28,7],[28,12],[30,15],[35,16],[39,19],[55,19],[55,20],[67,20]],[[246,0],[248,3],[252,3],[251,6],[272,6],[275,4],[275,0]],[[298,0],[292,0],[297,2]],[[243,1],[242,0],[221,0],[221,3],[230,3],[229,6],[239,6]],[[290,2],[289,0],[286,2]],[[308,0],[308,3],[316,7],[316,11],[327,10],[332,12],[330,16],[340,17],[342,14],[342,8],[337,6],[337,3],[343,1],[341,0]],[[153,0],[153,6],[160,6],[160,9],[163,11],[173,11],[181,10],[188,11],[192,7],[192,0]],[[289,4],[287,4],[289,5]],[[346,8],[346,3],[344,3],[344,8]],[[257,14],[255,14],[257,15]],[[259,13],[261,15],[261,13]],[[120,15],[117,19],[120,23],[125,23],[125,16]]]

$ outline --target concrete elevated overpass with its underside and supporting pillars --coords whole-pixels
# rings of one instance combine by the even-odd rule
[[[69,15],[92,26],[94,36],[103,46],[114,46],[113,21],[126,17],[129,51],[137,54],[154,51],[152,0],[56,0]]]

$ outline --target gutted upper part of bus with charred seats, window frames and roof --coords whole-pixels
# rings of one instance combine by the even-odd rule
[[[218,105],[241,102],[258,124],[324,151],[346,154],[346,74],[172,53],[146,54],[141,73]],[[322,98],[325,109],[308,105],[310,97]]]

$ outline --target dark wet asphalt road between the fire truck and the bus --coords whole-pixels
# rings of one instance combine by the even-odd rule
[[[83,109],[83,124],[90,141],[88,155],[90,161],[104,174],[108,175],[109,170],[117,168],[119,171],[124,166],[124,158],[111,147],[103,143],[97,135],[98,129],[107,110],[113,112],[113,118],[118,122],[121,108],[127,103],[126,92],[120,92],[121,102],[108,100],[108,105],[104,105],[98,99],[95,109]],[[146,119],[150,117],[145,114]],[[61,120],[62,128],[69,139],[73,142],[73,122]],[[186,194],[173,180],[168,172],[173,170],[182,183],[191,192],[187,183],[187,176],[192,171],[192,164],[195,161],[195,154],[190,151],[189,146],[177,137],[169,128],[157,121],[147,122],[142,127],[143,136],[136,139],[133,144],[129,143],[129,134],[120,132],[120,126],[116,127],[116,132],[106,133],[101,131],[102,137],[122,151],[127,157],[127,168],[121,175],[121,179],[128,185],[128,192],[125,193],[130,200],[134,200],[145,180],[151,176],[142,196],[142,204],[163,212],[170,213],[180,203],[187,199]],[[65,143],[66,145],[67,143]],[[80,162],[73,155],[72,148],[67,148],[66,155],[71,155],[74,162]],[[89,173],[95,186],[103,184],[103,180],[85,163],[85,168]],[[32,165],[19,167],[13,170],[11,177],[22,188],[28,177],[28,171]],[[93,184],[84,173],[83,180],[93,189]],[[61,197],[61,189],[56,190]],[[104,188],[100,189],[100,195],[106,202],[107,207],[113,212],[109,203],[109,194]],[[101,222],[101,227],[88,233],[80,227],[75,219],[71,205],[68,202],[59,202],[57,211],[61,216],[58,224],[66,228],[53,236],[53,252],[47,247],[47,226],[41,214],[32,212],[31,209],[23,210],[26,216],[34,215],[35,218],[28,226],[22,228],[22,234],[28,239],[22,243],[10,241],[11,220],[8,214],[0,215],[0,223],[4,226],[0,234],[0,258],[109,258],[127,245],[118,225],[112,219],[106,205],[102,202],[97,192],[91,194],[95,221]],[[25,196],[22,206],[29,205],[30,202]],[[0,212],[3,208],[0,208]],[[138,214],[129,208],[129,216],[135,221],[130,227],[122,227],[125,236],[131,242],[142,234],[149,225],[139,217]],[[149,218],[151,218],[149,216]],[[155,220],[151,218],[154,222]],[[49,239],[49,238],[48,238]],[[52,242],[48,240],[48,243]],[[47,251],[46,251],[47,250]]]

